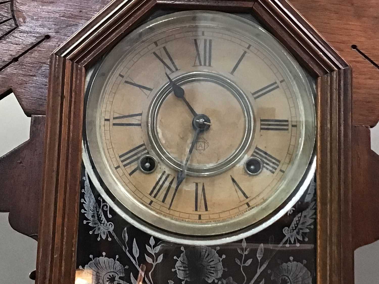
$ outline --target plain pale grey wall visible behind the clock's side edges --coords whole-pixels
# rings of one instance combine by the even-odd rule
[[[0,101],[0,156],[29,139],[30,118],[13,94]],[[371,131],[371,148],[379,153],[379,126]],[[378,189],[379,190],[379,189]],[[362,208],[364,210],[364,208]],[[8,213],[0,213],[0,284],[28,284],[35,269],[37,242],[14,231]],[[355,252],[355,284],[379,283],[379,241]]]

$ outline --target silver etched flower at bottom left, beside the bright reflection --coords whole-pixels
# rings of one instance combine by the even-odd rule
[[[127,284],[127,282],[120,279],[125,276],[124,267],[116,259],[103,256],[93,258],[90,255],[90,261],[84,270],[93,276],[92,284]],[[81,266],[80,269],[83,269]]]

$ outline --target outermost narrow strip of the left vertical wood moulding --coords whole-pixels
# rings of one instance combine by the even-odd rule
[[[50,56],[49,89],[45,122],[44,165],[39,219],[36,282],[51,283],[55,215],[56,172],[60,141],[61,94],[64,80],[64,58]]]

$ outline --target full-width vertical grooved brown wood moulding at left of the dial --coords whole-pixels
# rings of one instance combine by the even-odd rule
[[[85,70],[50,60],[37,283],[74,283]],[[76,228],[76,229],[74,229]]]

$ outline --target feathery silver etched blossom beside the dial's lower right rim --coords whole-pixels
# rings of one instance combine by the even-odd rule
[[[298,240],[308,240],[305,233],[308,233],[309,229],[313,228],[311,224],[315,222],[315,211],[316,202],[312,201],[307,209],[296,215],[290,227],[283,228],[283,233],[285,234],[284,242],[287,241],[286,247],[289,246],[290,241],[291,243],[296,242],[296,246],[299,246]]]

